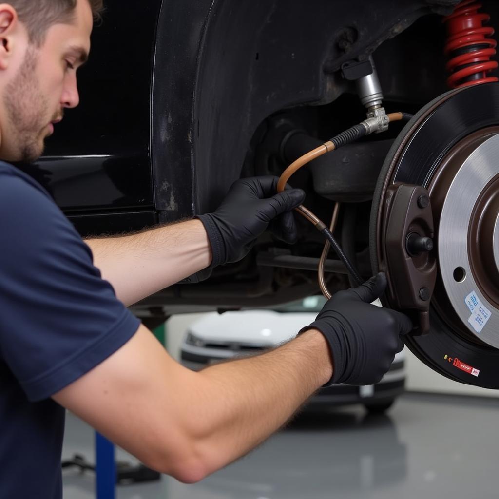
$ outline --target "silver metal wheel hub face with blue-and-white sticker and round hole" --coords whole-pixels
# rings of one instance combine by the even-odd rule
[[[446,294],[464,326],[499,348],[499,135],[474,143],[479,145],[462,161],[445,196],[438,261]],[[462,156],[462,151],[454,155],[454,162]],[[453,167],[452,161],[446,165]],[[435,182],[433,188],[442,186]]]

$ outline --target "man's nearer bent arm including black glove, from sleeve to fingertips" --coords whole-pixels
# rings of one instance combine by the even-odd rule
[[[380,274],[340,291],[289,343],[198,373],[141,326],[53,398],[146,465],[196,482],[258,445],[326,382],[380,381],[412,328],[370,304],[385,286]]]

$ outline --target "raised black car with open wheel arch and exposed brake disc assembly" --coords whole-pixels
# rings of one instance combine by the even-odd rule
[[[337,206],[336,240],[362,278],[387,273],[383,302],[413,317],[406,344],[423,362],[499,387],[499,83],[472,84],[489,76],[477,69],[448,86],[453,70],[480,62],[450,62],[455,28],[444,19],[458,1],[155,0],[140,17],[133,2],[108,3],[81,73],[82,109],[33,172],[83,236],[213,211],[235,180],[280,176],[366,112],[414,114],[313,160],[289,183],[326,225]],[[490,14],[480,25],[499,26],[497,2],[477,8]],[[359,86],[373,75],[377,107]],[[134,311],[154,324],[320,292],[324,239],[296,220],[295,245],[264,235],[242,261],[190,276]],[[409,251],[409,236],[433,249]],[[330,292],[353,284],[332,251],[325,283]]]

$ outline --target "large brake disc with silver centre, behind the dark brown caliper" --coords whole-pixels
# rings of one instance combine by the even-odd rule
[[[410,284],[393,268],[390,273],[385,256],[390,197],[401,184],[428,192],[434,241],[430,254],[437,263],[427,306],[429,332],[406,336],[404,342],[443,376],[498,389],[498,83],[439,96],[411,119],[386,157],[372,203],[371,263],[375,271],[387,273],[391,292],[383,304],[399,309],[397,290]],[[407,253],[404,257],[410,259]]]

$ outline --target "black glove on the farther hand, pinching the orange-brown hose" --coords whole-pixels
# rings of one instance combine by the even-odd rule
[[[280,240],[293,244],[298,232],[291,210],[305,199],[301,189],[275,194],[277,177],[236,181],[215,213],[198,216],[212,246],[211,267],[241,260],[267,227]]]

